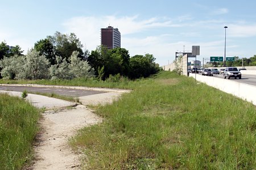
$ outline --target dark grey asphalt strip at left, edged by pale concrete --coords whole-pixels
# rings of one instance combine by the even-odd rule
[[[66,95],[72,97],[81,97],[89,96],[96,94],[103,94],[104,91],[92,91],[92,90],[79,90],[79,89],[70,89],[70,88],[53,88],[53,87],[24,87],[24,86],[0,86],[0,90],[6,91],[19,91],[23,92],[27,90],[29,92],[40,92],[47,94],[57,94],[57,95]]]

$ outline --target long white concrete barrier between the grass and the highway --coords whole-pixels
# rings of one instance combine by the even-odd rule
[[[189,76],[195,78],[195,74],[189,74]],[[256,86],[200,74],[196,74],[196,80],[256,105]]]

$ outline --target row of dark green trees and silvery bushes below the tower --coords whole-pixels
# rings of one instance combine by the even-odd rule
[[[111,75],[130,79],[147,77],[159,71],[152,54],[130,57],[125,48],[98,46],[91,53],[82,51],[75,33],[53,36],[35,43],[26,55],[18,45],[9,49],[0,44],[0,73],[5,79],[72,79],[96,77],[105,80]]]

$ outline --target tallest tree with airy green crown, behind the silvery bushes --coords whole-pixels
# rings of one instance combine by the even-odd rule
[[[55,32],[53,36],[47,36],[47,39],[53,45],[53,52],[56,56],[61,56],[67,61],[74,51],[79,52],[79,58],[84,58],[82,52],[81,41],[76,37],[75,33],[61,34],[60,32]]]

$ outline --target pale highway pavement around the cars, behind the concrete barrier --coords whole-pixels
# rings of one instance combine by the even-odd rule
[[[201,74],[201,73],[199,73],[199,74]],[[223,74],[213,74],[213,76],[216,77],[216,78],[224,79]],[[240,83],[245,83],[245,84],[250,84],[250,85],[256,86],[256,75],[242,74],[242,78],[241,79],[230,78],[230,79],[226,79],[226,80],[230,80],[230,81],[235,81],[235,82],[240,82]]]

